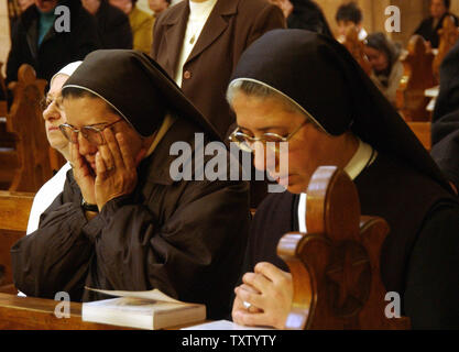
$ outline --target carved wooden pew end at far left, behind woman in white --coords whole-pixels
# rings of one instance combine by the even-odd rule
[[[0,169],[0,184],[8,184],[9,190],[37,191],[53,176],[40,107],[45,85],[26,64],[19,69],[18,82],[10,85],[14,98],[6,132],[14,135],[14,145],[0,148],[0,165],[7,166]]]

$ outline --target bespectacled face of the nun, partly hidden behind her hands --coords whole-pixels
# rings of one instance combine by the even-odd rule
[[[120,117],[112,112],[107,103],[100,98],[65,98],[64,109],[67,117],[67,123],[75,129],[80,129],[84,125],[97,125],[101,128],[103,124],[114,122]],[[142,139],[124,120],[109,127],[113,134],[121,132],[129,141],[129,154],[135,160],[142,147]],[[89,143],[81,133],[78,133],[78,151],[86,160],[88,165],[96,170],[96,153],[99,147]]]

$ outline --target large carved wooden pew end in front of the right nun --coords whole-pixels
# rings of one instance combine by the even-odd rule
[[[387,319],[380,253],[385,220],[361,217],[357,188],[335,166],[319,167],[307,189],[307,233],[287,233],[277,254],[288,264],[294,298],[289,329],[408,329]]]

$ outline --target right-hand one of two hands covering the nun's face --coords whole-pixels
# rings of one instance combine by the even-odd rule
[[[99,211],[111,199],[130,195],[138,183],[136,166],[145,155],[141,150],[135,158],[123,133],[103,131],[106,144],[96,154],[95,194]]]

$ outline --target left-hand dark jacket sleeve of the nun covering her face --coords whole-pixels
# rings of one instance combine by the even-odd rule
[[[67,292],[80,300],[94,248],[81,228],[87,223],[78,195],[68,183],[41,216],[39,229],[11,248],[15,287],[28,296],[54,298]]]

